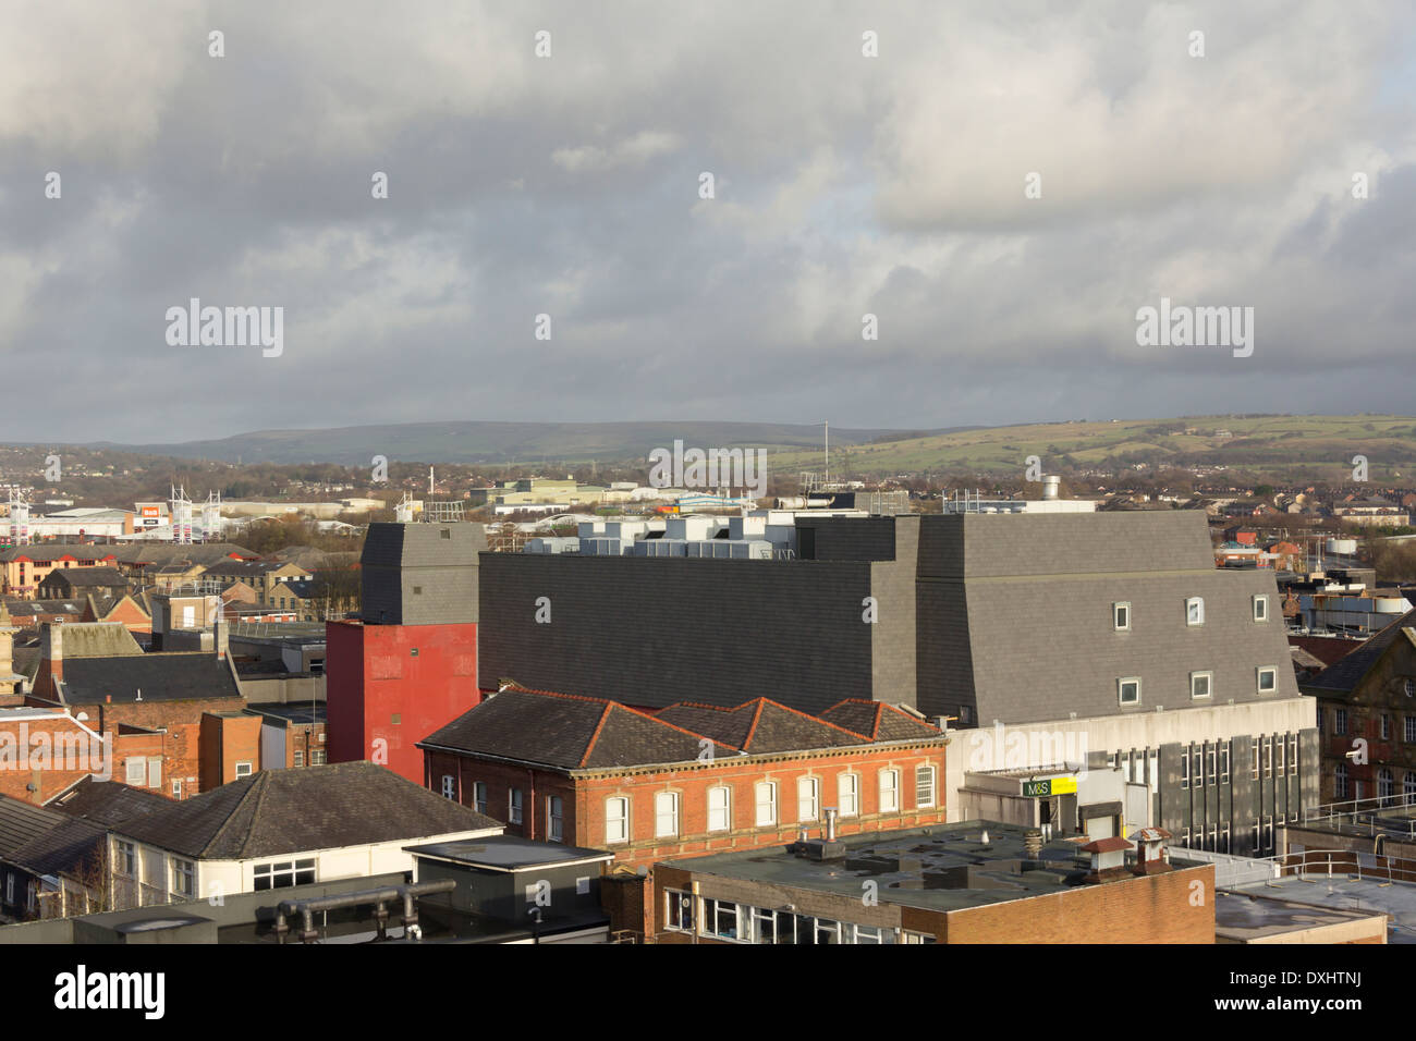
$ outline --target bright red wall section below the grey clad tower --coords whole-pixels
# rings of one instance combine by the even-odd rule
[[[372,759],[416,785],[425,776],[416,742],[481,701],[470,622],[330,622],[324,671],[330,762]]]

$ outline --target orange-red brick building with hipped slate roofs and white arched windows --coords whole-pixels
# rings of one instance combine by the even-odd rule
[[[620,865],[792,841],[840,813],[854,834],[944,820],[944,736],[891,705],[820,717],[504,690],[418,742],[425,783],[508,834],[612,850]]]

